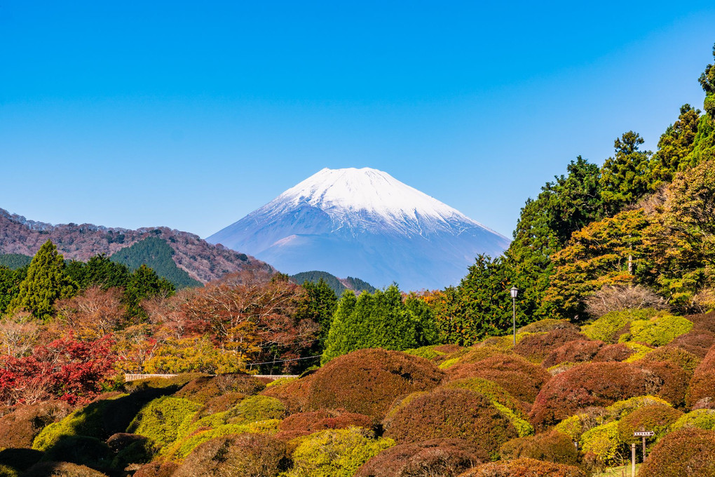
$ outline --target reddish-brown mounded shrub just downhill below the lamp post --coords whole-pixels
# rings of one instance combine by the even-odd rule
[[[449,380],[483,378],[497,383],[513,397],[533,403],[551,375],[541,366],[519,355],[497,354],[472,364],[458,364],[448,369]]]

